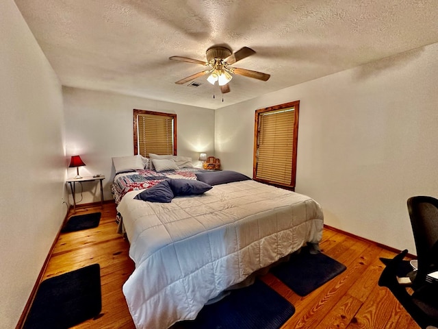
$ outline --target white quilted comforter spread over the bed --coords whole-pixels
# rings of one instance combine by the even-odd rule
[[[137,328],[194,319],[224,289],[322,238],[317,202],[253,180],[170,204],[133,199],[138,193],[117,208],[136,263],[123,293]]]

